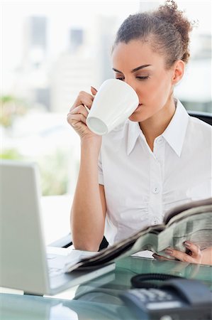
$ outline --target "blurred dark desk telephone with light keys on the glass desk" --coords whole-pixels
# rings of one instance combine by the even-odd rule
[[[126,290],[120,297],[137,319],[212,319],[212,292],[194,279],[169,279],[157,288]]]

